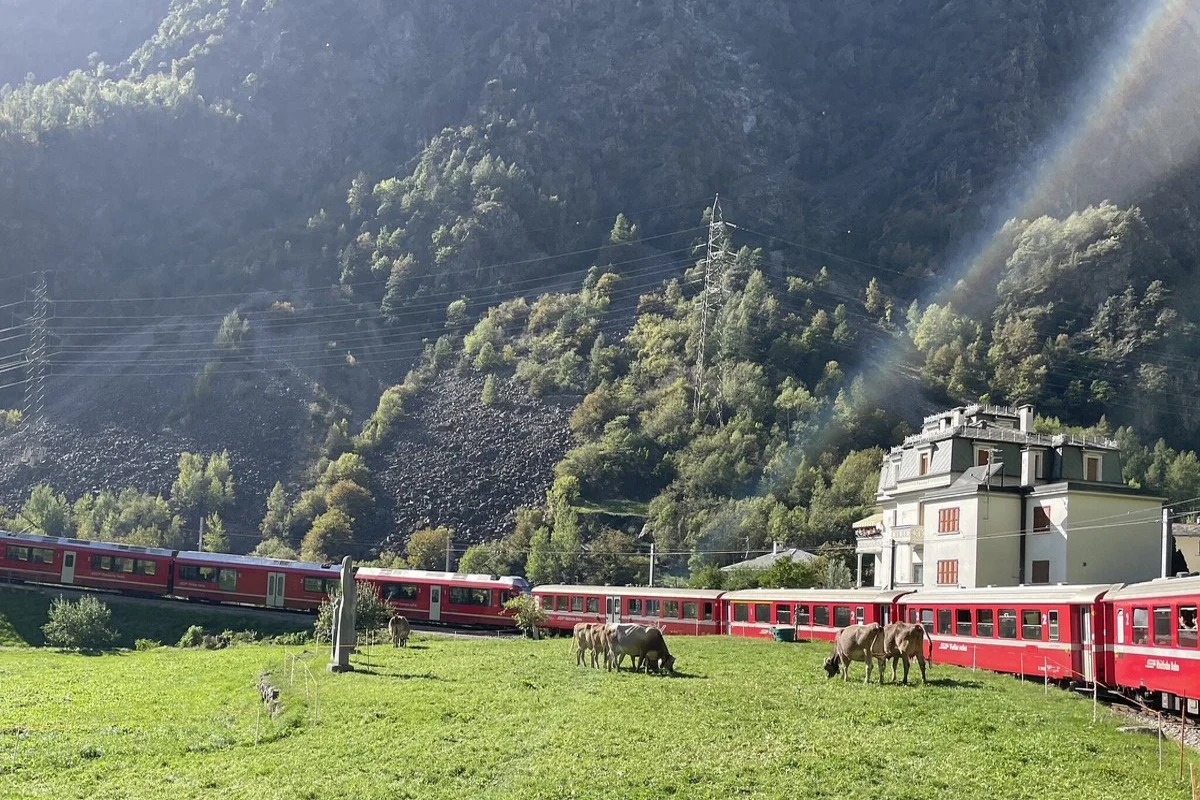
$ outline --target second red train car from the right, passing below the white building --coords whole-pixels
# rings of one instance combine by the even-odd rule
[[[932,589],[901,597],[934,642],[934,661],[1086,682],[1099,674],[1103,595],[1112,587]]]

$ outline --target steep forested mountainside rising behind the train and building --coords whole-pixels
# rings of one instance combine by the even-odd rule
[[[493,471],[522,485],[504,503],[550,487],[542,462],[568,449],[556,409],[582,402],[546,531],[572,528],[566,506],[592,510],[589,539],[624,524],[596,510],[649,504],[678,551],[714,525],[733,536],[714,521],[734,512],[791,541],[841,535],[869,501],[869,449],[949,402],[1032,401],[1194,446],[1193,151],[1175,143],[1150,185],[1052,186],[992,236],[1144,8],[8,2],[2,36],[23,44],[0,58],[0,291],[17,303],[0,405],[23,404],[16,324],[44,272],[60,427],[5,434],[26,467],[4,497],[104,488],[70,480],[67,449],[96,465],[228,449],[247,476],[222,506],[235,549],[281,481],[286,519],[264,533],[365,551],[462,518],[433,483],[389,476],[426,463],[412,437],[436,392],[457,387],[466,414],[463,387],[488,374],[500,397],[533,396],[498,419],[550,426],[532,428],[535,469],[499,449]],[[1105,163],[1159,157],[1136,112],[1105,109]],[[716,193],[736,228],[697,416],[695,264]],[[940,295],[986,236],[988,269]],[[419,422],[397,423],[406,401]],[[106,441],[146,444],[139,461]],[[166,495],[174,471],[113,475]],[[445,497],[488,474],[467,471]]]

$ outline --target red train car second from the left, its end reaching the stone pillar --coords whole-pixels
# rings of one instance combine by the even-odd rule
[[[340,566],[232,555],[175,554],[176,597],[218,603],[312,610],[341,582]]]

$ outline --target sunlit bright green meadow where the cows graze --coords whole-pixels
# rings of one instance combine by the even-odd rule
[[[826,648],[674,637],[678,678],[577,668],[564,639],[416,636],[332,675],[300,648],[0,652],[4,798],[1188,796],[1177,751],[1091,703],[934,667],[826,680]],[[269,720],[263,669],[283,690]],[[859,676],[862,669],[859,667]],[[293,678],[294,675],[294,678]]]

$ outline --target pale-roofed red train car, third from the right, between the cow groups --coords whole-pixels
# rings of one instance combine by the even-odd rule
[[[769,637],[790,627],[797,639],[833,640],[847,625],[887,625],[905,591],[878,589],[744,589],[727,591],[725,630],[730,636]]]

